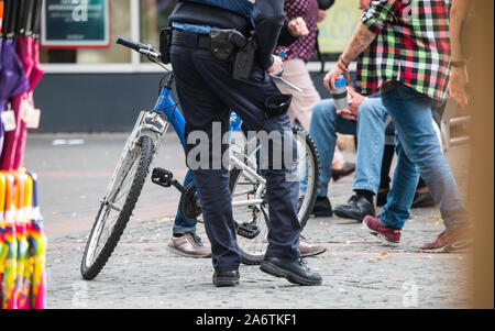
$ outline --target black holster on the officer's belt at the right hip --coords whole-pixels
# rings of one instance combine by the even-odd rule
[[[210,30],[211,54],[220,63],[232,62],[232,76],[237,80],[249,79],[257,49],[252,34],[245,37],[237,30]]]

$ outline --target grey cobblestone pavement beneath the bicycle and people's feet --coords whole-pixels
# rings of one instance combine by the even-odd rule
[[[62,141],[63,140],[63,141]],[[57,142],[56,142],[57,141]],[[311,218],[304,234],[328,251],[308,258],[322,286],[299,287],[242,265],[241,285],[216,288],[208,258],[165,250],[178,194],[147,183],[123,238],[100,275],[81,280],[79,264],[98,199],[119,157],[123,135],[33,135],[26,167],[40,176],[41,208],[48,235],[48,308],[465,308],[470,305],[470,255],[425,254],[418,246],[443,225],[437,209],[413,210],[402,245],[385,247],[362,225]],[[167,136],[156,166],[184,178],[184,156]],[[55,143],[55,144],[54,144]],[[466,188],[468,147],[448,155]],[[352,157],[352,155],[346,155]],[[351,192],[352,177],[331,184],[333,205]],[[204,227],[198,233],[207,240]]]

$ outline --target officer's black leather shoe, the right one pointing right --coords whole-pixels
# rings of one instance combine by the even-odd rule
[[[268,275],[286,278],[298,285],[321,285],[323,278],[320,274],[311,272],[304,258],[265,257],[260,269]]]

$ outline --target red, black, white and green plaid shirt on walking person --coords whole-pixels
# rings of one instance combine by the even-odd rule
[[[358,62],[363,95],[398,80],[437,100],[450,77],[450,0],[373,0],[361,22],[377,34]]]

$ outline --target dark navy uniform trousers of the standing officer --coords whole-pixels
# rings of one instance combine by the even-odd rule
[[[265,117],[265,100],[280,95],[268,75],[255,62],[246,81],[232,78],[231,63],[217,63],[209,49],[197,48],[191,42],[173,45],[170,60],[176,78],[176,89],[186,119],[186,141],[193,131],[212,136],[212,122],[221,123],[222,136],[229,131],[231,110],[253,131],[290,132],[287,113],[272,119]],[[287,135],[285,135],[287,136]],[[188,152],[195,145],[188,144]],[[222,146],[222,153],[226,150]],[[267,146],[264,146],[264,148]],[[210,146],[210,151],[211,151]],[[268,154],[270,148],[267,147]],[[294,152],[297,155],[296,152]],[[211,157],[211,153],[210,153]],[[268,162],[270,163],[270,162]],[[188,164],[189,165],[189,164]],[[189,165],[190,166],[190,165]],[[221,169],[193,169],[201,200],[205,228],[211,243],[216,271],[237,269],[241,255],[232,217],[229,172]],[[265,256],[297,258],[300,252],[301,231],[297,218],[299,183],[287,181],[288,168],[266,170],[266,198],[268,201],[268,247]]]

